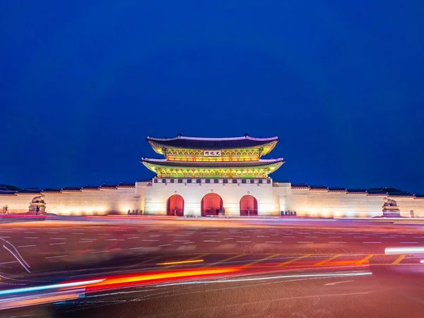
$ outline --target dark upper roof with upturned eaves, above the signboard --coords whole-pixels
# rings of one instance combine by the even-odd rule
[[[148,143],[151,144],[156,153],[163,155],[166,148],[178,149],[201,149],[201,150],[222,150],[237,148],[260,148],[269,144],[272,146],[264,151],[262,155],[269,153],[278,142],[278,137],[270,138],[254,138],[250,136],[231,137],[231,138],[202,138],[202,137],[186,137],[178,135],[174,138],[154,138],[147,137]]]

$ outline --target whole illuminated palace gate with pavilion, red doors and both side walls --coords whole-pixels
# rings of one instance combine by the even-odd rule
[[[170,139],[148,137],[159,159],[142,158],[155,172],[149,181],[99,187],[0,188],[0,213],[26,213],[42,195],[45,211],[59,215],[105,215],[128,212],[162,216],[280,216],[296,211],[311,217],[382,215],[384,198],[397,202],[401,216],[424,217],[424,196],[371,192],[275,182],[269,177],[283,158],[263,159],[277,137]],[[35,200],[37,201],[37,200]]]

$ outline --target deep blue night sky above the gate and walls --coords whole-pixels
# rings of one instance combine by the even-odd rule
[[[278,136],[273,179],[424,192],[424,1],[0,4],[0,183],[134,182],[146,136]]]

